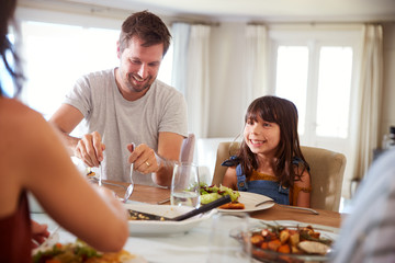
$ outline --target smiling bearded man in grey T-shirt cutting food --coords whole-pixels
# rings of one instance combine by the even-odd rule
[[[103,165],[104,179],[168,186],[188,136],[183,95],[157,80],[171,35],[155,14],[128,16],[117,42],[120,66],[80,78],[49,119],[88,167]],[[88,134],[69,134],[82,121]],[[133,149],[131,142],[137,147]]]

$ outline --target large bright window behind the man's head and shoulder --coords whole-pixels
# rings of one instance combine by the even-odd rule
[[[22,100],[49,118],[82,75],[116,67],[119,30],[41,22],[22,22],[23,58],[27,81]],[[158,79],[170,83],[172,46]]]

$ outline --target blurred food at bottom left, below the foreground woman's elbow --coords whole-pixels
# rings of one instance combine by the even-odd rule
[[[143,256],[131,254],[126,250],[121,250],[116,253],[99,252],[79,239],[77,239],[77,241],[72,243],[56,242],[53,245],[40,248],[40,250],[35,250],[35,252],[33,253],[32,262],[147,263],[147,261]]]

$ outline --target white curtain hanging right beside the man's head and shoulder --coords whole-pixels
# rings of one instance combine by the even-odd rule
[[[205,138],[208,135],[210,32],[208,25],[174,23],[172,26],[174,38],[172,84],[185,96],[188,128],[198,138]]]

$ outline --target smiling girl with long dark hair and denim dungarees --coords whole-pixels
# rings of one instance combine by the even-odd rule
[[[279,204],[309,207],[309,167],[297,135],[296,106],[278,96],[261,96],[248,107],[244,138],[223,185],[267,195]]]

